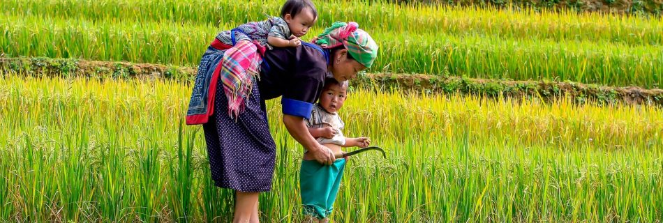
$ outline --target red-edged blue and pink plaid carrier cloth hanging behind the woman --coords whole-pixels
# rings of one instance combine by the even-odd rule
[[[232,29],[230,33],[232,45],[214,38],[214,42],[202,56],[186,112],[187,125],[207,123],[209,116],[214,114],[214,98],[219,78],[228,98],[228,115],[235,119],[244,111],[244,99],[251,94],[253,77],[260,78],[260,63],[265,47],[256,40],[237,43],[236,33],[248,37],[240,29]]]

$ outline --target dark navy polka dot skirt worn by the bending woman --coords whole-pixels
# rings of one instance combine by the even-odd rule
[[[228,116],[228,98],[219,82],[214,114],[202,126],[216,186],[241,192],[267,192],[274,176],[276,144],[269,133],[258,83],[254,81],[253,86],[245,100],[244,112],[235,121]]]

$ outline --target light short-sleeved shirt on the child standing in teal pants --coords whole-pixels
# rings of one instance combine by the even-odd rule
[[[336,134],[332,139],[327,139],[325,137],[318,137],[315,139],[320,144],[336,144],[338,146],[345,145],[345,136],[343,136],[343,126],[345,123],[341,120],[341,116],[338,116],[338,113],[334,112],[329,113],[325,111],[320,105],[313,106],[311,111],[311,118],[306,119],[306,126],[309,128],[325,128],[330,126],[336,129]]]

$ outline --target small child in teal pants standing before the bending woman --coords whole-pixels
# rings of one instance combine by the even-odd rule
[[[337,112],[343,107],[348,95],[347,90],[348,81],[339,83],[334,78],[325,79],[320,102],[313,107],[311,118],[306,120],[311,135],[334,154],[343,153],[342,147],[364,148],[371,144],[371,140],[366,137],[347,138],[341,132],[345,123]],[[345,162],[345,159],[337,159],[334,164],[327,166],[304,153],[299,169],[299,185],[304,215],[307,215],[309,220],[315,217],[318,222],[329,221],[327,217],[334,208]]]

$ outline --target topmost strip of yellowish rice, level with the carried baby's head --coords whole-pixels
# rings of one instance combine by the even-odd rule
[[[283,1],[80,1],[10,0],[3,11],[18,16],[80,18],[91,21],[184,22],[198,26],[233,26],[278,15]],[[485,34],[500,38],[607,41],[624,45],[661,45],[661,17],[556,12],[531,8],[398,5],[387,1],[316,1],[317,28],[334,21],[355,21],[369,31],[417,35]]]

